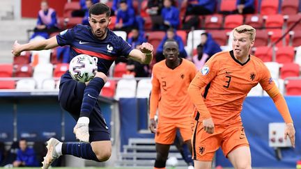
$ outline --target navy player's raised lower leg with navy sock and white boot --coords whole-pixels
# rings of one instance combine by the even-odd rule
[[[107,76],[102,72],[97,72],[95,77],[86,83],[86,88],[84,90],[84,99],[82,101],[82,108],[79,115],[79,120],[73,129],[76,138],[79,141],[84,141],[88,143],[88,124],[90,122],[90,114],[98,101],[98,96],[100,95],[100,90],[105,85],[107,81]]]

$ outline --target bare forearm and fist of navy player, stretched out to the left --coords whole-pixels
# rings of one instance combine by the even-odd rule
[[[20,56],[22,51],[40,51],[44,49],[52,49],[58,46],[59,44],[56,41],[56,36],[47,40],[33,41],[23,45],[19,44],[16,40],[11,52],[14,56]]]

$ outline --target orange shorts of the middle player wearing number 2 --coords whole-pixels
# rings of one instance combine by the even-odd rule
[[[180,130],[180,134],[184,141],[192,138],[193,120],[191,117],[180,120],[171,120],[167,118],[158,118],[157,132],[155,134],[155,143],[171,145],[176,138],[176,131]]]

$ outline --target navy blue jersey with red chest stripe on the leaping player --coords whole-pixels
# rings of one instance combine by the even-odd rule
[[[98,58],[98,72],[107,74],[109,67],[117,57],[128,57],[132,47],[121,37],[112,31],[107,31],[104,40],[95,38],[91,27],[77,24],[72,29],[67,29],[56,35],[56,40],[60,46],[70,45],[70,58],[79,54],[87,54]]]

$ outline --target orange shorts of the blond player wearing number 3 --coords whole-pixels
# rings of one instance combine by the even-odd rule
[[[208,134],[203,130],[202,122],[195,123],[192,135],[192,157],[194,160],[213,161],[213,156],[219,147],[227,156],[229,152],[241,146],[249,147],[242,123],[215,125],[213,134]]]

